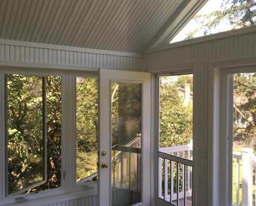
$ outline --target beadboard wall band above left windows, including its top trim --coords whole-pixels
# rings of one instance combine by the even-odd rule
[[[0,66],[140,71],[142,55],[0,39]]]

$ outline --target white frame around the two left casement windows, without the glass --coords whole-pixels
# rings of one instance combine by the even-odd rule
[[[59,201],[60,199],[72,198],[74,194],[77,197],[85,195],[94,195],[97,193],[96,188],[88,188],[85,190],[85,183],[76,183],[76,77],[92,77],[98,78],[97,72],[78,72],[56,69],[40,69],[40,68],[14,68],[0,67],[0,165],[5,165],[5,74],[20,74],[34,76],[61,76],[62,78],[62,181],[61,187],[51,190],[40,191],[29,194],[9,195],[6,196],[6,166],[0,167],[0,205],[17,203],[18,199],[24,198],[26,201],[20,201],[18,205],[35,205],[41,202],[42,205]],[[96,184],[97,185],[97,184]],[[80,192],[79,192],[80,191]],[[48,197],[47,202],[45,197]],[[42,203],[43,202],[43,203]],[[40,205],[41,205],[40,204]]]

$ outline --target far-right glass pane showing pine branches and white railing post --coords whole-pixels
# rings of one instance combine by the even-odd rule
[[[255,203],[256,73],[234,74],[233,190],[235,205]]]

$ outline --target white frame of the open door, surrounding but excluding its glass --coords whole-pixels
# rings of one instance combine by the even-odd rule
[[[99,70],[99,168],[98,205],[111,205],[111,82],[142,83],[142,147],[141,147],[141,202],[134,205],[150,205],[150,165],[152,164],[150,144],[150,73],[116,70]],[[101,152],[107,151],[106,156]],[[102,168],[102,162],[109,164]],[[145,164],[146,163],[146,164]],[[148,163],[148,164],[147,164]],[[103,180],[103,181],[101,181]]]

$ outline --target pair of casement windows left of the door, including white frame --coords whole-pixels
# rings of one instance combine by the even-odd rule
[[[0,72],[0,204],[97,186],[97,74]]]

